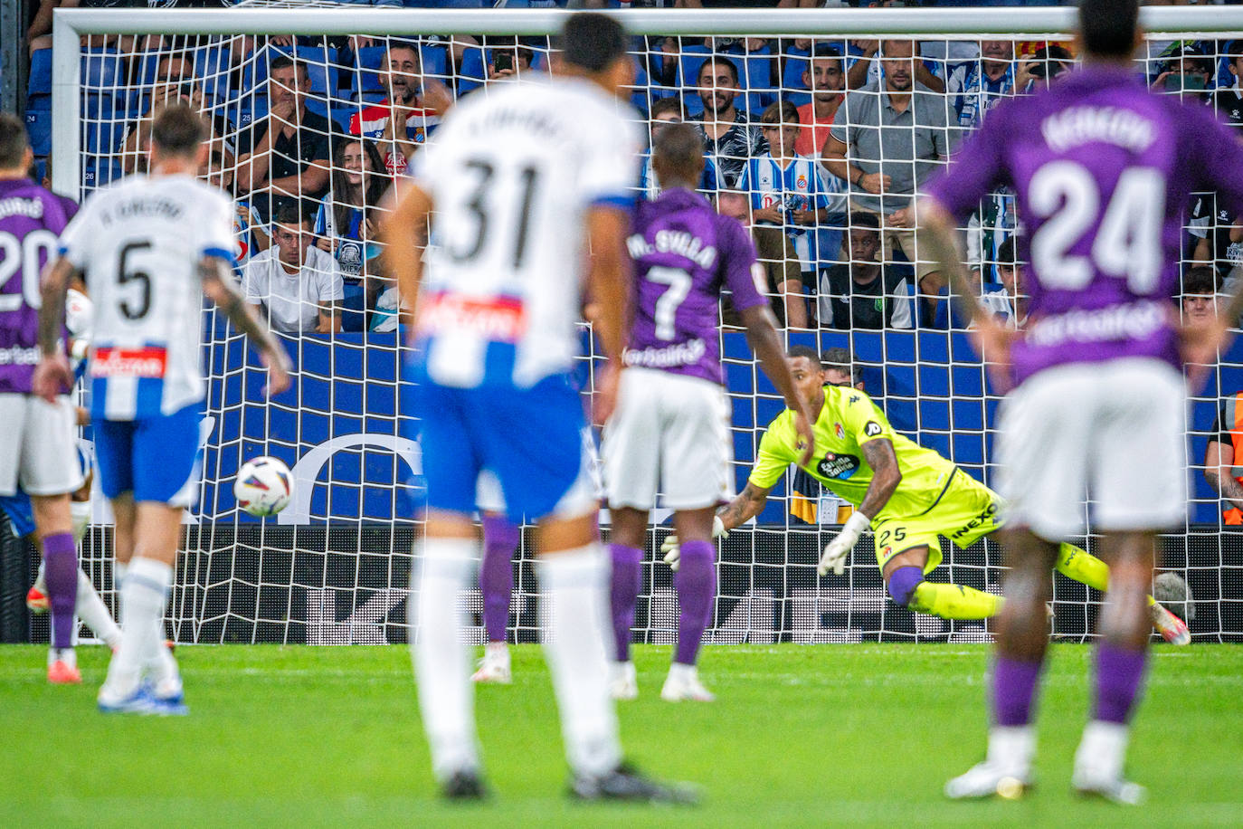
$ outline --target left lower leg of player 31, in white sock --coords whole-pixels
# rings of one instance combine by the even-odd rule
[[[480,798],[485,789],[460,602],[479,557],[475,526],[469,516],[429,510],[419,544],[423,566],[411,574],[419,633],[410,651],[431,771],[445,797]]]

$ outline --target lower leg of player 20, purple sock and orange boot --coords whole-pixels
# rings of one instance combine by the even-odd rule
[[[70,496],[32,495],[31,512],[36,534],[44,551],[47,580],[47,603],[52,613],[52,643],[47,656],[47,681],[77,684],[82,674],[73,653],[73,610],[77,605],[77,544],[73,542],[73,518]]]

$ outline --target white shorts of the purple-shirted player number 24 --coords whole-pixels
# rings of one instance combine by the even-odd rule
[[[1187,510],[1187,390],[1167,363],[1125,358],[1040,372],[1002,403],[1007,523],[1047,541],[1166,529]],[[1085,496],[1089,502],[1085,505]]]

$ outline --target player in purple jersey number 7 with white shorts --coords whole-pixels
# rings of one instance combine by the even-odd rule
[[[665,127],[654,140],[651,163],[663,193],[655,201],[639,203],[628,240],[635,263],[635,314],[618,408],[604,426],[617,634],[612,686],[617,698],[638,696],[630,628],[648,513],[659,488],[664,506],[674,510],[681,538],[674,582],[680,605],[677,650],[660,696],[711,700],[695,659],[716,598],[711,539],[725,534],[713,511],[732,488],[717,331],[722,287],[730,290],[764,373],[798,413],[804,461],[813,437],[807,404],[798,396],[768,301],[758,288],[755,245],[742,225],[695,193],[704,169],[699,133],[689,124]]]

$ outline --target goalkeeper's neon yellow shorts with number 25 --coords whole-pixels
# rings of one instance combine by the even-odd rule
[[[924,572],[932,572],[941,563],[941,536],[966,549],[977,539],[1001,527],[998,515],[1003,505],[999,495],[956,469],[945,492],[921,515],[885,517],[873,522],[876,563],[885,569],[894,556],[915,547],[929,548]]]

